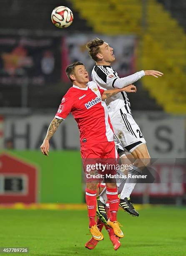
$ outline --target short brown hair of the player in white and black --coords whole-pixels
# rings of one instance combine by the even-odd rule
[[[88,53],[93,60],[98,61],[98,57],[96,55],[100,53],[99,46],[101,46],[103,43],[104,43],[103,39],[99,39],[98,37],[96,37],[86,44]]]

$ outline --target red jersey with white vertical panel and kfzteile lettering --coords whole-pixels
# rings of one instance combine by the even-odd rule
[[[101,100],[104,90],[95,82],[86,88],[71,87],[63,97],[55,118],[65,119],[71,112],[78,123],[80,144],[113,141],[113,128],[106,103]]]

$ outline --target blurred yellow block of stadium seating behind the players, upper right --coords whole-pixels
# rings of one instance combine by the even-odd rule
[[[161,80],[146,77],[143,86],[166,112],[186,113],[186,35],[163,5],[156,0],[146,5],[141,0],[94,0],[90,8],[89,0],[71,2],[96,33],[137,34],[138,67],[164,73]]]

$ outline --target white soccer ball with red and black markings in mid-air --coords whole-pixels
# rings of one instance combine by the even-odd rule
[[[52,11],[51,19],[56,27],[67,28],[73,22],[73,13],[66,6],[58,6]]]

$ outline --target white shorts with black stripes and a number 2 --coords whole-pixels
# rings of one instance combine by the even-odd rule
[[[111,119],[115,134],[116,149],[132,152],[139,145],[146,143],[141,130],[131,114],[118,111]],[[121,157],[121,156],[120,156]]]

